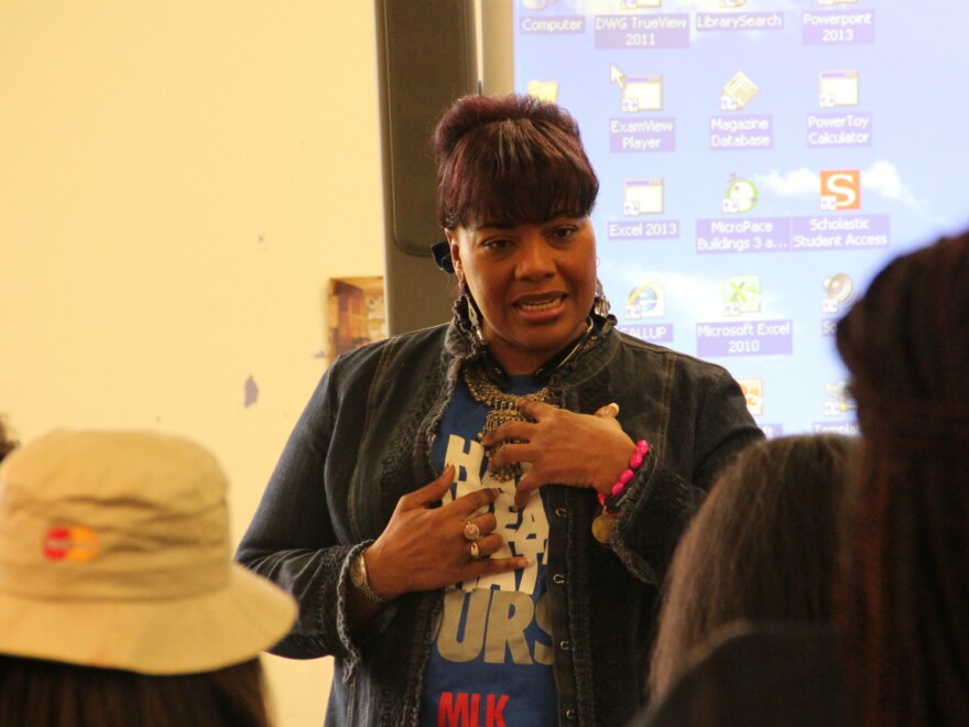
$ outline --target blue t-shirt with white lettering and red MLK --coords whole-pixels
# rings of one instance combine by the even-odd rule
[[[522,395],[537,389],[527,377],[511,377],[507,391]],[[558,724],[545,606],[548,519],[541,489],[515,512],[514,484],[484,471],[488,463],[477,435],[488,410],[471,398],[459,377],[434,441],[434,462],[438,471],[445,463],[457,467],[446,502],[482,487],[501,490],[488,508],[498,520],[496,532],[504,538],[504,546],[492,557],[524,555],[530,565],[446,589],[424,672],[423,727]]]

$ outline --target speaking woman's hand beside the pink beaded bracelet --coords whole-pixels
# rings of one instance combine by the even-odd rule
[[[481,440],[486,447],[505,443],[488,463],[489,471],[514,463],[532,465],[518,482],[515,507],[523,508],[533,490],[548,484],[610,493],[635,452],[635,443],[616,420],[614,404],[595,414],[576,414],[527,399],[518,405],[534,423],[508,422]]]

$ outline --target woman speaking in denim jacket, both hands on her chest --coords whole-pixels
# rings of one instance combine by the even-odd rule
[[[573,118],[468,96],[434,133],[454,319],[339,357],[239,560],[335,658],[327,725],[619,725],[717,471],[762,433],[722,368],[614,328]]]

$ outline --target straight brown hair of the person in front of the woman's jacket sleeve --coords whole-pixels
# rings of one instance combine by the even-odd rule
[[[857,449],[837,434],[780,437],[721,473],[669,566],[652,698],[731,621],[830,621],[837,513]]]

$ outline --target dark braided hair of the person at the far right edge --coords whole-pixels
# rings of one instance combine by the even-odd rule
[[[838,325],[865,441],[838,601],[858,727],[969,725],[967,281],[969,235],[944,239]]]

